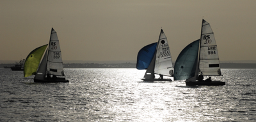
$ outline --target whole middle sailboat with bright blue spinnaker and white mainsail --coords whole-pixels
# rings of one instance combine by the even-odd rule
[[[138,52],[136,68],[147,69],[144,81],[172,81],[163,79],[163,76],[173,76],[172,56],[163,29],[157,43],[148,44]],[[160,78],[155,79],[155,74],[159,74]]]

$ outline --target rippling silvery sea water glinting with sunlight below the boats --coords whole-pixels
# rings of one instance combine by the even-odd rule
[[[221,69],[225,86],[143,82],[137,69],[65,69],[34,83],[0,69],[0,121],[256,121],[256,69]]]

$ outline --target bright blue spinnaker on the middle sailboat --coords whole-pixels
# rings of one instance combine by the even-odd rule
[[[148,44],[141,48],[137,56],[137,69],[147,69],[155,55],[157,43]]]

